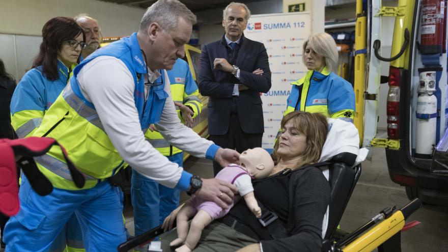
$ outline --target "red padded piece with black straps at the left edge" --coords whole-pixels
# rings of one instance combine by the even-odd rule
[[[59,145],[52,138],[27,137],[22,139],[0,139],[0,211],[8,216],[15,215],[19,207],[16,162],[26,175],[32,188],[39,195],[48,195],[53,190],[50,181],[39,171],[34,156],[42,156],[53,145]],[[86,180],[68,159],[65,149],[61,147],[73,182],[79,188]]]

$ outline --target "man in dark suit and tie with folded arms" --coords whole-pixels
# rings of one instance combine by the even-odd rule
[[[240,153],[261,147],[264,124],[260,92],[271,88],[266,48],[243,35],[249,17],[244,4],[226,7],[222,19],[226,34],[202,49],[198,85],[201,94],[210,97],[210,140]],[[221,169],[213,163],[215,175]]]

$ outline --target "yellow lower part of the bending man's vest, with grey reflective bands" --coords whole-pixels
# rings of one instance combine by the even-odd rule
[[[68,88],[67,88],[68,87]],[[48,109],[42,125],[34,136],[58,139],[69,152],[69,158],[77,169],[87,177],[86,185],[77,188],[67,176],[67,165],[59,147],[52,147],[46,161],[37,161],[39,170],[54,187],[79,190],[95,186],[99,179],[106,179],[123,166],[123,160],[102,130],[96,111],[82,105],[80,99],[67,86],[56,102]],[[63,100],[62,102],[60,100]],[[59,102],[58,102],[59,101]],[[63,136],[63,137],[61,137]],[[54,149],[57,148],[57,149]]]

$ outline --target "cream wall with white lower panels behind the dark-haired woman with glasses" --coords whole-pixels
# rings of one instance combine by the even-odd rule
[[[55,16],[88,13],[103,36],[127,36],[138,30],[144,9],[96,0],[0,0],[0,59],[19,80],[31,67],[42,42],[42,26]]]

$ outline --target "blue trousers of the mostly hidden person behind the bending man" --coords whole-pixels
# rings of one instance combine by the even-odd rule
[[[167,156],[167,158],[183,165],[184,153]],[[169,188],[152,179],[132,171],[131,201],[134,208],[135,235],[145,233],[163,222],[176,207],[179,206],[179,189]]]

